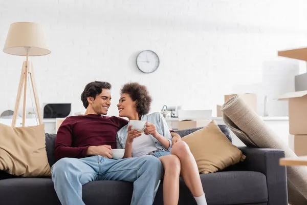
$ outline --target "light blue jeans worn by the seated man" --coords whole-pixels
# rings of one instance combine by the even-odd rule
[[[134,182],[131,204],[151,205],[163,166],[153,156],[115,160],[98,155],[81,159],[62,158],[52,166],[51,172],[54,189],[63,205],[83,205],[82,185],[96,180]]]

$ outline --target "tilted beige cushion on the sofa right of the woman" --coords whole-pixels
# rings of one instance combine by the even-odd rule
[[[182,140],[188,144],[201,174],[223,170],[246,157],[231,144],[214,120]]]

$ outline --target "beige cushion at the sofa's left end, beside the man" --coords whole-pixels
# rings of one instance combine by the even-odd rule
[[[24,177],[51,176],[43,124],[17,128],[0,124],[0,170]]]

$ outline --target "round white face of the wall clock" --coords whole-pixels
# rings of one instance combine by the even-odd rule
[[[137,57],[137,66],[144,73],[152,73],[159,67],[160,60],[153,51],[142,51]]]

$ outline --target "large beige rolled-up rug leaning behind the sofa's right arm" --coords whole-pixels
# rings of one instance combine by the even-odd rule
[[[289,146],[240,96],[233,96],[227,100],[221,111],[225,124],[246,146],[281,149],[286,157],[296,157]],[[287,167],[287,179],[291,183],[288,185],[289,202],[293,205],[307,204],[307,167]],[[298,202],[295,196],[303,197],[299,197]]]

